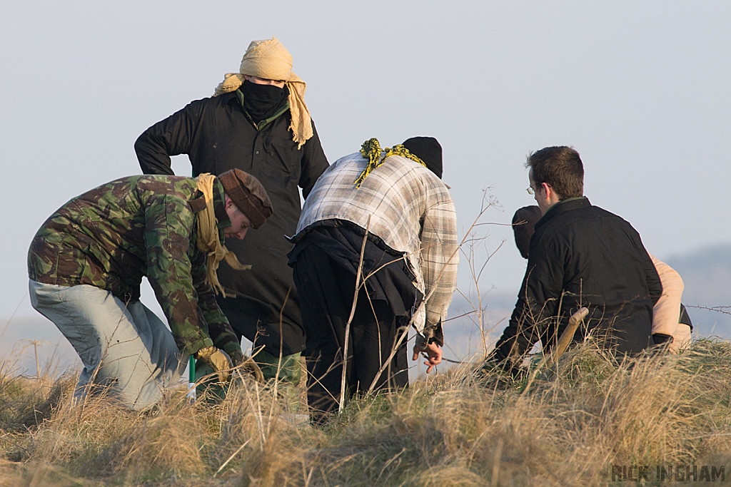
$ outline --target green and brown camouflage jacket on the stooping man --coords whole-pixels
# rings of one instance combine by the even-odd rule
[[[230,226],[216,180],[219,238]],[[183,355],[216,345],[240,345],[213,288],[205,283],[205,253],[197,249],[197,211],[205,207],[196,181],[178,176],[130,176],[64,204],[35,235],[28,274],[39,283],[88,284],[123,302],[140,299],[146,276]]]

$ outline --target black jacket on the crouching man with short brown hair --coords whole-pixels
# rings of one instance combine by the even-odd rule
[[[495,356],[518,357],[539,339],[550,348],[583,306],[589,315],[576,340],[592,331],[617,353],[640,352],[653,345],[652,308],[661,294],[637,231],[586,197],[567,199],[536,223],[518,302]]]

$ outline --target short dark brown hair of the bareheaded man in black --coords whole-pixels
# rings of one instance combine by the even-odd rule
[[[559,199],[584,194],[584,166],[579,153],[572,147],[559,145],[537,150],[528,156],[526,167],[533,172],[536,188],[547,183],[558,193]]]

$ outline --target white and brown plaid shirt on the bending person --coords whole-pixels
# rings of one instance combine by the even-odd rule
[[[429,169],[390,156],[360,188],[353,182],[366,167],[360,153],[338,159],[322,173],[305,200],[297,234],[322,220],[351,221],[404,252],[427,297],[414,326],[424,333],[447,318],[457,287],[457,217],[447,185]],[[371,218],[368,223],[368,217]],[[431,336],[427,331],[426,336]]]

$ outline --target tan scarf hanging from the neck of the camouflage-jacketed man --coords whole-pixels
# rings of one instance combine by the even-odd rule
[[[198,226],[198,250],[208,254],[205,261],[208,275],[205,276],[205,282],[213,286],[216,294],[219,292],[226,297],[224,287],[219,283],[219,276],[216,271],[219,269],[219,263],[225,259],[233,269],[243,271],[251,269],[251,265],[241,264],[235,254],[221,245],[219,239],[219,229],[216,226],[216,214],[213,212],[213,182],[216,176],[204,172],[195,178],[197,181],[198,191],[203,193],[205,198],[205,210],[197,213]]]

